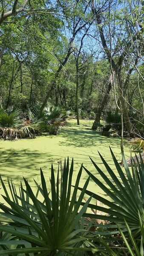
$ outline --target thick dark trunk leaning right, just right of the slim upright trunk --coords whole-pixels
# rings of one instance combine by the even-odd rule
[[[109,92],[112,88],[112,83],[113,83],[113,76],[111,74],[110,77],[109,77],[109,81],[107,82],[107,85],[106,85],[106,90],[105,90],[105,93],[104,93],[104,97],[101,101],[101,106],[98,109],[98,112],[96,113],[95,121],[92,125],[92,130],[96,130],[98,128],[98,124],[100,123],[102,111],[104,110],[105,105],[107,105],[107,102],[108,102],[108,99],[109,99]]]

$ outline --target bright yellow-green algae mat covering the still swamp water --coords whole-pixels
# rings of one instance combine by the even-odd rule
[[[107,163],[115,169],[109,146],[117,160],[121,162],[121,139],[101,136],[99,132],[89,130],[91,125],[92,121],[89,120],[81,120],[79,126],[76,124],[76,120],[70,120],[66,128],[61,130],[57,136],[38,136],[35,140],[0,140],[0,175],[3,181],[7,183],[9,176],[14,184],[18,185],[25,177],[35,189],[33,179],[40,183],[40,167],[49,182],[51,164],[53,163],[55,172],[57,172],[58,162],[62,160],[63,163],[64,158],[69,156],[70,160],[74,157],[74,183],[81,163],[84,163],[84,166],[94,175],[98,175],[89,156],[105,172],[98,151],[107,160]],[[130,157],[127,140],[125,140],[125,156],[126,158]],[[81,186],[83,186],[86,178],[87,174],[83,170]],[[100,192],[92,181],[89,183],[89,189]]]

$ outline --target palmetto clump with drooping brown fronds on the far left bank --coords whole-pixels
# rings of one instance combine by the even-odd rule
[[[66,125],[69,111],[58,107],[49,106],[43,111],[39,106],[29,109],[27,115],[23,115],[20,108],[10,106],[4,109],[0,106],[0,138],[18,140],[18,138],[35,138],[41,132],[57,134],[58,130]]]

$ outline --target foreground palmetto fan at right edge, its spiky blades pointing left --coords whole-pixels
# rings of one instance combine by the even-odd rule
[[[125,228],[125,218],[134,236],[139,238],[139,215],[141,216],[142,224],[144,225],[144,162],[141,155],[140,161],[138,161],[137,156],[135,156],[136,161],[135,163],[131,164],[132,170],[130,170],[123,154],[123,163],[125,169],[125,171],[123,171],[111,149],[110,151],[118,174],[116,174],[115,171],[111,169],[101,154],[99,155],[107,170],[107,174],[101,171],[97,164],[92,159],[91,160],[95,169],[101,176],[102,181],[99,179],[99,177],[97,177],[97,174],[92,175],[92,173],[90,173],[84,167],[87,174],[91,175],[92,180],[108,196],[107,199],[104,196],[100,196],[86,190],[87,195],[92,196],[92,198],[95,198],[95,200],[98,200],[105,205],[105,207],[102,207],[90,204],[89,207],[92,209],[97,209],[104,213],[104,215],[96,214],[91,215],[91,217],[103,219],[110,223],[108,225],[109,232],[107,234],[118,233],[116,224],[118,224],[121,229]],[[131,162],[132,161],[133,160],[131,157]],[[84,216],[88,217],[89,214],[85,213]]]

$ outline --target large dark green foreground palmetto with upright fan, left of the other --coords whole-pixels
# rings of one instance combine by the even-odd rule
[[[0,255],[14,255],[29,253],[33,255],[88,255],[87,251],[98,251],[92,241],[95,237],[89,231],[91,226],[84,226],[82,215],[86,212],[91,197],[81,207],[81,203],[89,183],[86,180],[82,192],[76,202],[78,184],[81,178],[82,166],[78,172],[75,188],[71,189],[73,160],[69,168],[69,159],[65,160],[61,182],[59,185],[59,169],[57,174],[57,186],[55,186],[55,175],[53,166],[51,168],[51,193],[46,187],[46,180],[41,175],[41,186],[37,186],[37,194],[34,195],[29,183],[24,179],[26,189],[20,185],[20,195],[17,195],[14,184],[8,185],[11,195],[1,179],[1,184],[6,196],[3,198],[5,204],[0,204],[1,221],[9,222],[0,225],[0,232],[9,234],[8,241],[0,241],[3,250]],[[38,193],[43,200],[38,199]],[[11,234],[11,235],[10,235]],[[10,248],[13,244],[14,248]],[[80,254],[78,254],[80,252]],[[37,254],[39,253],[39,254]],[[76,253],[76,254],[75,254]],[[82,253],[82,254],[81,254]]]

